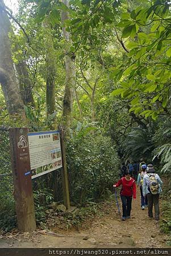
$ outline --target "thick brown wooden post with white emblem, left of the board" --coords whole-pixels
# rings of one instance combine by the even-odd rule
[[[18,229],[32,232],[36,230],[36,221],[27,133],[27,128],[9,130]]]

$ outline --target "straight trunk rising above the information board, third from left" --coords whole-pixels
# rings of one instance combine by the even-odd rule
[[[47,115],[55,112],[55,75],[56,75],[56,61],[55,49],[53,47],[52,29],[48,20],[43,22],[45,28],[45,48],[46,48],[46,106]]]

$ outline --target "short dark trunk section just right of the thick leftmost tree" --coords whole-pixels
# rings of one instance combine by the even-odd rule
[[[19,90],[24,102],[24,105],[35,106],[34,97],[32,95],[31,81],[28,76],[27,65],[22,60],[15,64],[16,72],[18,73]]]

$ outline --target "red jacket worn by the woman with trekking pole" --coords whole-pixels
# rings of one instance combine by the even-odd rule
[[[122,184],[120,195],[132,196],[136,199],[136,184],[134,179],[126,180],[126,177],[122,177],[115,185],[119,187]]]

